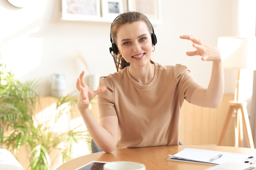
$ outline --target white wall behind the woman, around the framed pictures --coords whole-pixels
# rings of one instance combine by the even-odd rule
[[[217,46],[217,37],[234,35],[236,0],[161,0],[162,24],[154,25],[157,35],[152,59],[163,65],[184,64],[204,86],[211,75],[211,62],[187,57],[192,43],[179,35],[190,34]],[[30,0],[22,9],[0,0],[0,41],[2,58],[22,81],[40,79],[38,93],[50,95],[50,75],[66,76],[65,93],[76,90],[75,83],[84,64],[90,73],[108,75],[115,72],[109,53],[110,22],[61,20],[61,0]],[[88,74],[88,72],[86,72]],[[231,84],[233,86],[234,84]],[[225,87],[226,92],[233,87]],[[234,90],[231,90],[234,93]]]

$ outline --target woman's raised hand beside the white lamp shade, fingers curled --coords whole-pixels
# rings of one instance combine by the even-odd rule
[[[211,46],[209,44],[203,43],[199,38],[192,35],[181,35],[181,39],[191,40],[193,42],[193,47],[196,51],[187,51],[186,55],[195,56],[200,55],[203,61],[220,61],[221,55],[220,51],[216,46]]]

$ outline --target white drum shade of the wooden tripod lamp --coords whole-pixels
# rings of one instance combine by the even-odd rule
[[[256,37],[218,37],[218,49],[224,68],[256,70]]]

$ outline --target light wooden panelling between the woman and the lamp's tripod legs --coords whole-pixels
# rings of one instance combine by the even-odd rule
[[[181,109],[180,141],[185,145],[216,145],[229,101],[234,95],[225,94],[218,108],[202,108],[184,102]],[[223,146],[234,146],[234,124],[230,121]]]

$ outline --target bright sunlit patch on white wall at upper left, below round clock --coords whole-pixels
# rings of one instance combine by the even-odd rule
[[[45,14],[45,1],[31,1],[24,8],[12,7],[6,2],[6,8],[0,6],[0,26],[2,60],[16,77],[28,73],[38,66],[42,55],[42,40],[31,38],[39,31],[36,22]]]

